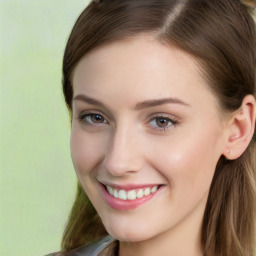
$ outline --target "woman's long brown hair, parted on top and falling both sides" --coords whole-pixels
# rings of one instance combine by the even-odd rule
[[[248,2],[248,1],[246,1]],[[251,5],[255,1],[249,1]],[[72,113],[72,74],[88,52],[113,41],[150,33],[200,63],[223,112],[255,96],[256,32],[239,0],[103,0],[76,21],[63,59],[63,92]],[[72,115],[72,114],[71,114]],[[255,247],[255,139],[236,160],[219,159],[205,209],[202,244],[207,256],[253,256]],[[105,236],[106,230],[78,183],[63,235],[67,251]]]

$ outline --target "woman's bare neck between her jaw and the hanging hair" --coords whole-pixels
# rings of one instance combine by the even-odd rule
[[[120,242],[119,256],[203,256],[204,207],[195,210],[171,229],[140,242]]]

